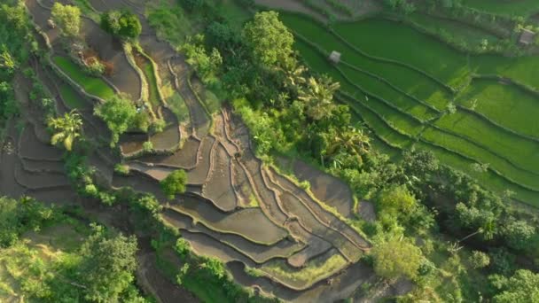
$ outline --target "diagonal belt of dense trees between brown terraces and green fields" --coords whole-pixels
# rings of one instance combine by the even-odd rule
[[[402,166],[397,167],[379,152],[379,141],[354,122],[356,108],[334,100],[339,85],[309,71],[293,55],[291,35],[276,13],[257,13],[241,33],[222,19],[212,19],[211,15],[207,19],[206,50],[215,48],[223,58],[223,65],[213,72],[219,75],[219,82],[207,85],[224,87],[234,99],[232,104],[251,129],[260,156],[270,160],[277,152],[309,159],[347,180],[359,197],[377,202],[379,220],[372,225],[357,223],[375,242],[371,258],[377,272],[388,279],[408,276],[419,285],[403,299],[494,298],[502,288],[492,284],[494,276],[490,280],[487,276],[511,276],[523,266],[515,261],[516,254],[536,259],[532,248],[537,247],[536,219],[515,212],[508,196],[483,190],[469,176],[446,167],[445,161],[436,158],[438,153],[403,146]],[[383,27],[381,22],[379,25]],[[253,36],[254,28],[261,28],[265,35]],[[369,27],[366,32],[375,33],[377,28]],[[317,38],[313,39],[332,43],[331,37],[320,37],[323,33],[324,29],[316,30]],[[417,54],[418,62],[425,66],[423,52],[410,54]],[[198,56],[188,53],[188,58],[196,61]],[[193,66],[197,67],[196,62]],[[457,85],[450,82],[456,74],[445,77],[450,85]],[[399,79],[414,81],[418,77],[401,74]],[[350,87],[346,81],[340,84],[345,90]],[[426,118],[422,119],[447,110],[441,96],[433,97],[438,101],[428,101],[433,103],[423,110]],[[362,115],[369,111],[363,105],[358,108]],[[441,200],[454,204],[441,204]],[[453,244],[438,239],[440,230],[453,237]],[[525,241],[527,247],[519,246],[513,236]],[[413,240],[417,237],[422,245]],[[481,251],[462,250],[462,245],[470,241],[473,247],[481,246]],[[413,262],[397,262],[408,260],[410,254],[417,256]],[[450,283],[443,272],[451,272],[454,278]]]

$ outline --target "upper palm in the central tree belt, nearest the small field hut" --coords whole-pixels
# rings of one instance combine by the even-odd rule
[[[331,116],[336,105],[333,103],[333,93],[340,88],[339,82],[332,82],[328,76],[316,80],[310,77],[307,87],[300,90],[301,101],[307,105],[307,115],[313,120],[322,120]]]

